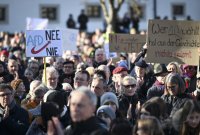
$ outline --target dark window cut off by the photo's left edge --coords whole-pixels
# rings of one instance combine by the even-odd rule
[[[0,23],[8,23],[8,5],[0,5]]]

